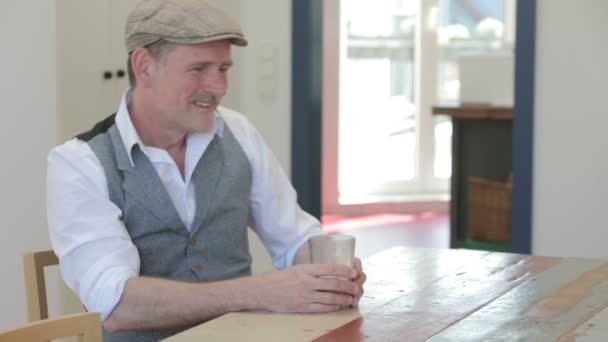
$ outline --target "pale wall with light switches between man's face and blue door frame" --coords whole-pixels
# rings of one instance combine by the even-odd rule
[[[249,41],[234,47],[224,105],[245,114],[289,175],[291,154],[291,1],[212,0],[239,19]],[[249,235],[253,272],[272,270],[261,242]]]

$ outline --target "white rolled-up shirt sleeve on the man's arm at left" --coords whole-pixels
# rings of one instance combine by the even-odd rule
[[[88,144],[74,139],[49,152],[47,215],[61,275],[102,319],[119,302],[127,279],[139,274],[139,254],[121,214]]]

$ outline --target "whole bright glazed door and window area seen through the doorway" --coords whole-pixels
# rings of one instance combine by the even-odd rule
[[[333,141],[337,149],[324,152],[323,177],[326,166],[337,169],[337,190],[329,193],[339,203],[447,198],[451,121],[432,116],[431,107],[458,100],[460,55],[512,48],[512,25],[505,23],[513,6],[513,0],[324,2],[324,87],[331,88],[324,102],[338,103],[324,104],[324,116],[337,116],[324,124],[333,130],[324,132],[324,146]]]

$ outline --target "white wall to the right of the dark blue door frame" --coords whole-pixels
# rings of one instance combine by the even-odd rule
[[[532,251],[608,258],[608,1],[537,6]]]

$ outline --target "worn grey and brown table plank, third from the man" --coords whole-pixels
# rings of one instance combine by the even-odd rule
[[[555,341],[608,305],[608,264],[563,259],[430,341]]]

